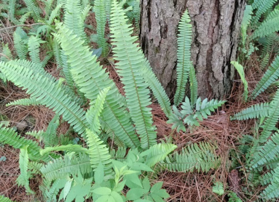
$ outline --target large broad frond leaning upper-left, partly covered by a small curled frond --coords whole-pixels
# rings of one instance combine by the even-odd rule
[[[68,62],[71,64],[71,73],[75,83],[80,87],[80,91],[85,94],[86,98],[94,100],[103,88],[111,86],[111,90],[107,93],[102,116],[114,134],[120,137],[127,146],[139,147],[140,142],[129,116],[126,114],[126,109],[122,107],[122,96],[113,80],[110,80],[105,69],[96,63],[97,57],[92,56],[89,48],[83,46],[80,38],[71,36],[71,32],[59,23],[57,23],[57,28],[59,28],[62,38],[61,46],[66,51],[65,54],[71,58]]]

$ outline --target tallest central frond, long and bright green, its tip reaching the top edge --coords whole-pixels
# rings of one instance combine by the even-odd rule
[[[138,134],[141,138],[142,148],[150,148],[156,144],[155,126],[152,126],[152,115],[150,108],[146,107],[150,104],[148,96],[149,90],[144,83],[142,65],[144,64],[144,55],[139,51],[139,47],[134,42],[137,37],[132,37],[133,33],[130,25],[126,24],[127,17],[120,8],[116,0],[113,1],[111,11],[111,37],[115,59],[120,61],[118,65],[118,73],[123,78],[127,104],[135,122]]]

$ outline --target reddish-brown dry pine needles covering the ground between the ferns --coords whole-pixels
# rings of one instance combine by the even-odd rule
[[[94,21],[94,20],[92,20]],[[93,23],[94,24],[94,23]],[[88,33],[90,35],[91,33]],[[9,37],[7,41],[9,41]],[[13,50],[13,47],[10,47]],[[256,83],[260,80],[265,70],[261,69],[260,62],[257,61],[257,53],[254,52],[250,56],[250,60],[245,61],[245,78],[248,81],[248,90],[254,89]],[[270,62],[274,58],[270,58]],[[122,84],[120,78],[116,74],[114,68],[110,64],[105,64],[105,60],[100,58],[103,67],[107,68],[110,73],[110,77],[116,82],[120,92],[123,93]],[[270,64],[270,63],[269,63]],[[49,62],[46,66],[46,70],[54,77],[59,76],[59,71],[54,63]],[[230,116],[237,113],[244,108],[256,104],[267,102],[271,100],[271,95],[275,92],[275,88],[270,88],[269,91],[265,91],[253,101],[243,103],[241,100],[243,94],[243,85],[240,78],[236,73],[235,80],[233,81],[233,87],[230,95],[227,95],[226,104],[216,111],[215,114],[204,119],[200,122],[200,127],[188,128],[186,132],[171,129],[171,124],[166,124],[167,117],[164,115],[160,106],[153,102],[152,107],[153,121],[157,126],[158,142],[160,139],[172,136],[174,144],[178,146],[178,149],[185,147],[189,143],[212,140],[216,142],[218,148],[216,154],[221,156],[222,163],[218,170],[212,170],[209,172],[170,172],[168,170],[162,171],[155,181],[163,181],[163,188],[167,190],[171,196],[168,201],[225,201],[217,194],[212,192],[213,178],[221,179],[223,182],[228,182],[230,187],[235,187],[235,192],[241,192],[241,186],[249,187],[247,184],[243,184],[247,178],[245,170],[238,168],[233,171],[228,171],[227,160],[231,158],[229,156],[230,150],[236,150],[236,146],[239,145],[238,139],[241,135],[252,135],[251,128],[255,125],[255,120],[245,121],[230,121]],[[22,106],[11,105],[6,107],[9,102],[17,99],[27,98],[24,90],[14,86],[11,82],[0,82],[0,121],[8,121],[11,127],[21,127],[20,134],[27,138],[32,138],[26,135],[27,131],[31,130],[46,130],[49,121],[55,115],[51,109],[48,109],[42,105],[37,106]],[[60,123],[57,133],[64,134],[68,131],[69,124],[66,122]],[[74,132],[71,135],[75,136]],[[32,198],[31,195],[25,194],[25,188],[17,186],[15,180],[20,174],[19,170],[19,149],[14,149],[8,145],[0,144],[0,157],[5,156],[5,161],[0,161],[0,195],[9,197],[12,201],[32,202],[40,201],[39,185],[41,182],[40,175],[33,178],[30,182],[30,187],[36,192],[37,198]],[[241,162],[240,162],[241,163]],[[256,197],[256,195],[255,195]],[[253,196],[248,201],[254,201]]]

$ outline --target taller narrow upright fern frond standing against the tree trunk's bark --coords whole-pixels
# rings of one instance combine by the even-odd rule
[[[189,76],[190,57],[191,57],[191,43],[192,43],[192,25],[189,23],[190,16],[185,10],[178,24],[178,38],[177,38],[177,89],[174,95],[174,105],[177,106],[182,102],[185,96],[185,87]]]

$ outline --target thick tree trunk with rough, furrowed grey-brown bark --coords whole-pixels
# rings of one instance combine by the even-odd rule
[[[173,97],[176,90],[177,26],[185,9],[193,25],[191,60],[198,94],[230,93],[245,0],[142,0],[140,45],[153,72]]]

